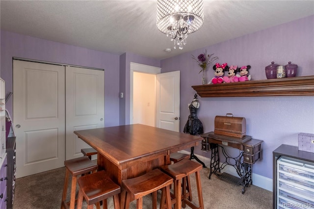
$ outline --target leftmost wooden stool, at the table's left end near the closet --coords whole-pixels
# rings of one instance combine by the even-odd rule
[[[67,198],[68,180],[69,180],[70,174],[72,176],[70,209],[74,209],[78,176],[82,174],[87,174],[89,172],[95,172],[98,166],[97,166],[97,162],[91,161],[87,156],[65,160],[64,165],[66,168],[66,172],[65,172],[64,185],[63,185],[61,209],[65,209],[69,207],[68,203],[66,203],[65,201]]]

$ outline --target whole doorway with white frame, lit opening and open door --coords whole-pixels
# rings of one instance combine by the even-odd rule
[[[130,123],[141,123],[144,125],[154,126],[157,128],[167,129],[171,131],[180,131],[180,71],[173,71],[168,73],[160,73],[161,68],[143,65],[138,63],[131,62],[130,68]],[[154,75],[154,77],[149,77],[149,75]],[[135,79],[134,80],[134,76]],[[151,78],[154,78],[151,79]],[[147,83],[146,80],[149,79],[150,83]],[[137,84],[135,82],[145,83],[145,84]],[[149,87],[151,86],[151,87]],[[146,93],[147,95],[143,95],[141,92],[144,91],[142,89],[138,90],[138,88],[150,88]],[[154,90],[155,89],[155,90]],[[151,95],[149,95],[151,93]],[[139,95],[139,96],[135,96]],[[136,110],[135,105],[142,106],[142,108],[147,109],[147,107],[151,106],[152,100],[148,100],[149,97],[156,98],[155,100],[155,111],[150,112],[151,115],[143,115],[145,112],[143,109]],[[137,97],[135,101],[134,97]],[[142,102],[142,104],[137,104],[137,102]],[[151,107],[151,110],[153,108]],[[135,111],[139,111],[135,112]],[[138,114],[138,115],[137,115]],[[136,121],[134,121],[133,115],[136,115]],[[151,122],[150,124],[146,123],[146,117],[155,118],[155,122]]]

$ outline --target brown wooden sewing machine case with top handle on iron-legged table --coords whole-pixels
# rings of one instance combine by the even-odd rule
[[[232,115],[228,113],[227,115]],[[215,134],[243,138],[246,135],[246,120],[243,117],[232,116],[215,117]]]

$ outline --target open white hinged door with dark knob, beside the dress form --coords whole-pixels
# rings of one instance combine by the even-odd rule
[[[180,131],[180,71],[157,74],[156,126]]]

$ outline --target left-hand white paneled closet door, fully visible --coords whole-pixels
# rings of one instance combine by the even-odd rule
[[[16,178],[64,166],[64,67],[13,60]]]

